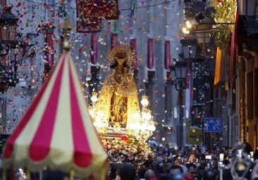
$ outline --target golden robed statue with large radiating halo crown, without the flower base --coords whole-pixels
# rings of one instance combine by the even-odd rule
[[[102,128],[102,134],[130,135],[140,119],[133,73],[135,54],[130,47],[121,44],[110,49],[106,57],[110,70],[99,92],[93,121]]]

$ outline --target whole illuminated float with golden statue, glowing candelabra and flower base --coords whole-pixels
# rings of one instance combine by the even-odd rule
[[[155,157],[147,140],[155,124],[147,96],[142,96],[140,107],[133,72],[135,53],[121,44],[110,49],[106,58],[110,70],[102,90],[92,92],[89,110],[109,162],[152,162]]]

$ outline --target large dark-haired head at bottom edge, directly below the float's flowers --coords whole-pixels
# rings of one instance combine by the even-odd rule
[[[116,173],[116,180],[135,180],[136,179],[136,167],[135,165],[127,162],[118,167]]]

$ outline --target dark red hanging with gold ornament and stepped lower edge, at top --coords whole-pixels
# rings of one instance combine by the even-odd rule
[[[118,19],[118,0],[78,0],[77,31],[100,32],[102,20]]]

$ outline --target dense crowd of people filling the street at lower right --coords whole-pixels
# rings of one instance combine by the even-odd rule
[[[243,180],[258,179],[258,151],[249,143],[201,153],[199,148],[156,151],[154,162],[111,164],[109,180]]]

